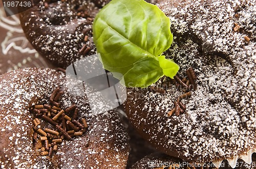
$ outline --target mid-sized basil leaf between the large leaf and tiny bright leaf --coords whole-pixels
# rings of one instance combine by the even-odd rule
[[[163,76],[159,63],[154,58],[147,58],[136,62],[121,80],[126,87],[146,88]]]

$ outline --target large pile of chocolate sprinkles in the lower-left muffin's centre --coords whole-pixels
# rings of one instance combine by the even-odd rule
[[[59,88],[55,89],[50,96],[49,104],[37,104],[30,108],[35,115],[33,119],[33,143],[40,149],[40,155],[52,157],[57,152],[58,145],[63,139],[70,140],[72,137],[81,136],[87,131],[86,119],[78,119],[78,108],[75,104],[67,108],[60,107],[58,102],[63,94]],[[41,121],[51,124],[42,129]]]

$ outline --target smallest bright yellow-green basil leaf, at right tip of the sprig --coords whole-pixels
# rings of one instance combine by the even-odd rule
[[[172,59],[165,59],[164,55],[161,55],[158,59],[159,65],[163,69],[163,74],[170,78],[174,78],[180,69],[179,65],[177,65]]]

